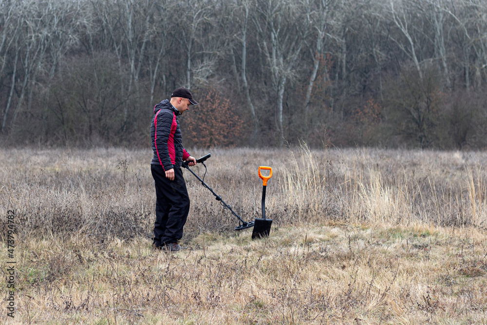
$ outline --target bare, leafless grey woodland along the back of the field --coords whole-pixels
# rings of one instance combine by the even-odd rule
[[[485,0],[2,0],[4,145],[487,146]]]

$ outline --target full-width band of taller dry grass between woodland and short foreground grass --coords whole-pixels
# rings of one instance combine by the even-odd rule
[[[206,152],[194,150],[195,156]],[[273,167],[267,216],[275,225],[351,223],[484,228],[487,154],[482,152],[217,149],[206,182],[246,220],[261,215],[259,165]],[[150,237],[155,193],[147,150],[2,150],[0,206],[23,235],[81,231],[97,238]],[[198,166],[195,172],[204,173]],[[235,218],[185,172],[187,238],[230,230]],[[5,211],[6,212],[6,211]],[[5,213],[2,214],[2,218]]]

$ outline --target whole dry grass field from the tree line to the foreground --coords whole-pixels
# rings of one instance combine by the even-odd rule
[[[487,324],[487,153],[211,153],[205,181],[249,221],[273,168],[269,238],[185,171],[189,249],[156,251],[150,150],[1,150],[0,324]]]

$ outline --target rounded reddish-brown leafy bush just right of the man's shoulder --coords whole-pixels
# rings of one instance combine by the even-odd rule
[[[200,148],[234,147],[244,134],[241,118],[233,111],[230,100],[216,90],[202,94],[200,104],[191,106],[184,117],[185,138],[189,140],[189,135],[192,144]]]

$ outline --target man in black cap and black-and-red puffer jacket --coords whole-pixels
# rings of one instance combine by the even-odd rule
[[[183,227],[189,212],[189,196],[181,171],[183,161],[196,165],[196,159],[183,147],[178,116],[198,105],[186,88],[178,88],[154,106],[150,126],[154,157],[150,171],[155,181],[157,197],[155,206],[154,242],[158,249],[177,251],[183,249],[178,241],[183,237]]]

